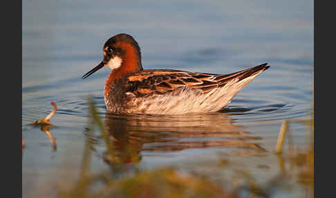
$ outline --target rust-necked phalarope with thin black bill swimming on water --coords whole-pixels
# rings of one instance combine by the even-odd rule
[[[106,110],[115,114],[203,114],[227,106],[256,75],[260,64],[230,74],[175,69],[143,69],[138,42],[131,35],[113,35],[102,48],[103,60],[82,76],[111,68],[105,86]]]

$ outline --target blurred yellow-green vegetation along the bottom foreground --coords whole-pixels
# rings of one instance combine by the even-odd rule
[[[80,176],[71,186],[59,185],[58,197],[273,197],[279,192],[286,195],[291,189],[288,184],[290,182],[306,188],[306,197],[313,197],[313,141],[310,142],[310,147],[304,150],[292,150],[289,141],[288,152],[283,152],[284,134],[289,131],[288,122],[287,126],[281,127],[280,134],[283,134],[283,138],[281,145],[280,143],[277,145],[277,155],[274,155],[279,161],[279,174],[261,184],[248,168],[237,166],[223,157],[218,159],[216,165],[212,164],[214,167],[212,173],[179,167],[162,167],[154,170],[138,168],[140,159],[138,154],[134,154],[137,151],[134,148],[126,148],[123,153],[116,150],[95,109],[93,98],[88,99],[88,104],[90,116],[85,131],[86,143]],[[307,136],[312,140],[313,122],[304,124],[308,128]],[[99,134],[95,134],[95,129],[98,129]],[[111,168],[93,173],[90,164],[95,144],[100,141],[95,138],[97,136],[101,137],[106,150],[100,157]],[[118,176],[125,172],[124,167],[129,165],[132,165],[133,172],[124,177]],[[259,165],[258,168],[267,170],[269,167]],[[221,174],[223,170],[232,171],[232,176]],[[297,174],[292,175],[293,172]],[[220,178],[216,179],[213,175]]]

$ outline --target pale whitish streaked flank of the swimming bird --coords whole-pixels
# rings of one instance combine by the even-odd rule
[[[229,104],[232,98],[259,73],[261,71],[239,82],[238,79],[234,79],[227,82],[224,87],[218,87],[205,94],[200,89],[185,87],[160,96],[134,98],[133,104],[136,106],[127,111],[145,114],[190,114],[218,111]]]

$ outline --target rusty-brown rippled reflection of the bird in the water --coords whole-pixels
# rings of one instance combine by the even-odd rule
[[[123,163],[137,163],[142,158],[141,152],[167,153],[191,148],[227,147],[234,152],[243,149],[251,155],[265,152],[259,143],[249,142],[261,137],[243,131],[243,127],[234,125],[232,118],[223,113],[144,116],[106,112],[104,125],[115,155]],[[104,157],[107,163],[109,159]]]

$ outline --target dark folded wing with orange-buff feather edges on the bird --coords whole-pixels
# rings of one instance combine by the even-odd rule
[[[243,80],[268,69],[267,63],[230,74],[195,73],[170,69],[147,69],[134,73],[127,79],[127,92],[135,96],[165,94],[181,87],[201,89],[204,93],[227,82]],[[133,95],[132,94],[132,95]]]

